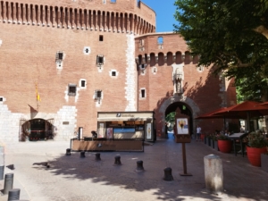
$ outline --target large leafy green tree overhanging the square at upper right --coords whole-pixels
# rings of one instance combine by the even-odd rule
[[[177,0],[175,5],[175,32],[200,56],[198,66],[213,65],[215,73],[235,78],[241,93],[267,100],[268,1]]]

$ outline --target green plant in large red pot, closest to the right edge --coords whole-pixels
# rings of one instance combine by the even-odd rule
[[[255,130],[247,135],[247,158],[254,166],[261,166],[261,154],[267,152],[268,140],[261,130]]]

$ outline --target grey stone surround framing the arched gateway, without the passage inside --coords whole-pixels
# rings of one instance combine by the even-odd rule
[[[191,117],[192,117],[192,128],[196,128],[196,123],[194,121],[194,119],[197,117],[197,113],[200,112],[199,107],[197,106],[197,104],[194,102],[194,100],[192,100],[191,98],[187,97],[187,96],[178,96],[178,95],[174,95],[172,97],[169,97],[168,99],[166,99],[163,104],[160,106],[158,112],[159,112],[159,116],[161,118],[161,125],[158,125],[161,127],[161,137],[165,138],[165,114],[166,114],[166,110],[168,109],[168,107],[170,105],[173,105],[174,103],[178,103],[178,105],[187,105],[188,109],[191,112]]]

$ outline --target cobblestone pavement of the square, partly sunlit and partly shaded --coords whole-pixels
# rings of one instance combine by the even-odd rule
[[[250,165],[247,156],[235,156],[215,151],[202,142],[186,144],[187,171],[183,172],[181,144],[169,139],[157,139],[145,152],[87,152],[65,155],[70,142],[39,141],[2,143],[5,165],[14,164],[13,188],[21,189],[21,199],[30,201],[153,201],[153,200],[268,200],[268,172]],[[222,158],[224,192],[211,194],[205,189],[204,156]],[[121,166],[113,165],[121,156]],[[136,172],[142,160],[145,171]],[[39,164],[33,164],[39,163]],[[42,165],[49,163],[50,167]],[[174,180],[164,181],[163,169],[172,168]],[[0,180],[4,188],[4,180]],[[0,196],[6,201],[7,195]]]

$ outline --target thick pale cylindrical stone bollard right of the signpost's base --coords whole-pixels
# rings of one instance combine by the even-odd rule
[[[205,164],[205,188],[213,193],[223,191],[222,159],[218,155],[206,155]]]

